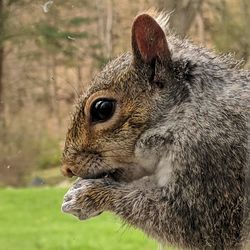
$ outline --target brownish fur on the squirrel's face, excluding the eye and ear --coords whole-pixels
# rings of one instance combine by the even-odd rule
[[[111,77],[109,70],[113,66],[106,66],[93,80],[87,94],[78,100],[65,142],[64,175],[93,178],[116,170],[116,178],[133,180],[147,174],[138,166],[135,169],[138,163],[134,149],[145,124],[149,124],[153,106],[149,97],[157,92],[148,87],[145,79],[138,78],[132,63],[123,63],[124,58],[132,61],[130,54],[115,60],[116,64],[120,61],[120,74]],[[108,121],[92,123],[91,105],[99,98],[114,99],[116,110]]]

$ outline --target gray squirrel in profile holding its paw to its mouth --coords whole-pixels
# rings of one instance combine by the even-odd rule
[[[138,15],[132,52],[109,62],[76,103],[62,211],[110,211],[162,244],[242,249],[249,236],[250,71]]]

